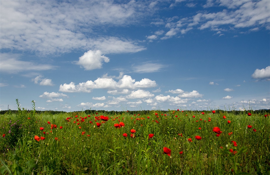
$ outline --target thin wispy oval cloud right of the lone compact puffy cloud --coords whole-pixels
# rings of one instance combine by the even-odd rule
[[[139,64],[137,66],[133,66],[132,70],[135,73],[152,73],[152,72],[159,72],[165,67],[167,67],[167,65],[146,62]]]

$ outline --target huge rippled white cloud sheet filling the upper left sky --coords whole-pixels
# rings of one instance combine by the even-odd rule
[[[135,1],[1,1],[1,48],[42,54],[74,49],[138,52],[145,48],[133,41],[116,37],[89,39],[84,33],[104,31],[100,25],[134,24],[148,13],[146,7]]]

